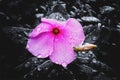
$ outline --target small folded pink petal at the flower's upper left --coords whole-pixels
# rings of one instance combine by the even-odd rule
[[[51,25],[47,23],[40,23],[29,35],[30,38],[34,38],[43,32],[50,32]]]

